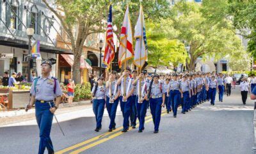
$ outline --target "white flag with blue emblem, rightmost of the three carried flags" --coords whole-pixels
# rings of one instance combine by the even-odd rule
[[[142,5],[140,6],[140,15],[135,26],[134,38],[136,39],[136,44],[133,63],[137,67],[142,68],[148,57],[148,46]]]

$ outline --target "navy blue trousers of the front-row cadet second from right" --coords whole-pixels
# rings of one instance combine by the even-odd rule
[[[138,100],[138,97],[137,99]],[[138,103],[138,101],[136,101],[136,106],[137,106],[137,115],[138,115],[138,119],[140,122],[140,127],[139,130],[144,129],[144,123],[145,123],[145,116],[147,113],[147,106],[148,106],[148,101],[144,100],[142,103]]]

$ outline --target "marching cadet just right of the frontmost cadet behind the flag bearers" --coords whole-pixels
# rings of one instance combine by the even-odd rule
[[[190,93],[190,85],[189,85],[189,81],[187,80],[187,76],[184,75],[182,76],[182,81],[180,83],[180,87],[183,93],[183,99],[182,99],[182,112],[183,114],[185,114],[186,112],[188,112],[189,109],[189,99],[191,98],[191,93]]]

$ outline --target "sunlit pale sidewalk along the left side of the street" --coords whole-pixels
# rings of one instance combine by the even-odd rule
[[[90,101],[73,102],[72,105],[74,106],[69,107],[68,104],[64,104],[64,106],[63,104],[60,104],[59,109],[56,111],[56,115],[92,107]],[[35,108],[30,109],[28,112],[26,112],[25,109],[0,111],[0,127],[17,122],[26,122],[28,120],[35,120]]]

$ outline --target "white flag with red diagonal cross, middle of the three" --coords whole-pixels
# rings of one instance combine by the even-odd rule
[[[124,22],[120,34],[120,46],[118,52],[118,66],[122,67],[122,62],[132,59],[134,55],[132,48],[132,27],[129,17],[129,6],[125,11]]]

